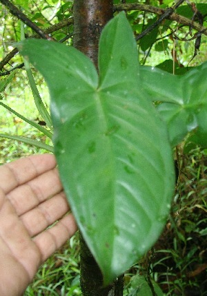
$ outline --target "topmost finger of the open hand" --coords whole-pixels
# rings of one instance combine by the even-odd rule
[[[0,188],[7,194],[55,167],[56,160],[52,154],[33,155],[9,162],[0,167]]]

